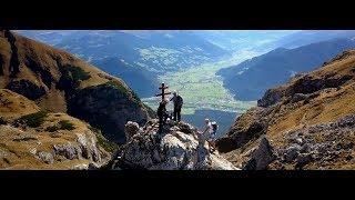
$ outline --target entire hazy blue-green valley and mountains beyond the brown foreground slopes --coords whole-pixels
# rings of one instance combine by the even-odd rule
[[[165,82],[184,98],[182,113],[189,122],[202,128],[204,118],[224,121],[221,136],[240,113],[256,106],[266,89],[354,47],[355,36],[300,30],[18,32],[121,78],[153,110],[160,101],[154,97],[158,87]]]

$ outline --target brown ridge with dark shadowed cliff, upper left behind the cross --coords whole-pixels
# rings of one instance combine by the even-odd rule
[[[9,42],[9,36],[16,40]],[[65,51],[10,31],[1,31],[0,41],[0,88],[20,93],[43,109],[79,117],[115,142],[124,141],[125,120],[143,124],[153,113],[121,79]],[[104,99],[106,94],[111,98]],[[95,114],[101,121],[93,118]]]

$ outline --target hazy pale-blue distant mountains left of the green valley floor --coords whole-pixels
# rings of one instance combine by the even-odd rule
[[[230,51],[190,31],[18,31],[67,50],[120,76],[140,97],[151,97],[158,74],[215,61]],[[132,79],[132,74],[135,78]]]

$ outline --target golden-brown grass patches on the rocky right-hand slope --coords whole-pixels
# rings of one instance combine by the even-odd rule
[[[312,79],[341,78],[344,76],[353,76],[353,78],[339,88],[322,89],[320,96],[310,102],[300,101],[292,103],[282,101],[281,104],[272,108],[267,118],[272,118],[273,122],[268,124],[266,136],[273,141],[273,146],[286,146],[285,137],[288,131],[297,128],[310,127],[323,122],[331,122],[342,117],[355,113],[355,50],[348,51],[335,58],[326,66],[308,73]],[[286,90],[293,87],[298,79],[293,79],[274,90]],[[239,129],[247,128],[253,121],[258,121],[257,117],[250,110],[237,120]],[[232,132],[230,132],[232,133]],[[322,136],[321,136],[322,137]],[[320,138],[318,138],[320,139]],[[224,153],[226,159],[235,164],[241,164],[247,150],[257,146],[260,140],[251,140],[240,149],[235,149]],[[355,139],[351,141],[355,143]],[[335,169],[346,168],[344,163],[329,163]],[[317,164],[310,164],[308,169],[318,169]]]

